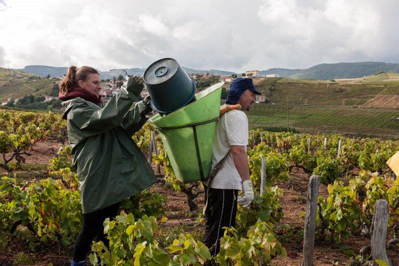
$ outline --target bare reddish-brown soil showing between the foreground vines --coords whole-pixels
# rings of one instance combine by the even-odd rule
[[[59,148],[56,142],[38,143],[32,150],[31,156],[26,158],[26,163],[30,164],[48,164],[54,154],[51,148],[56,152]],[[156,171],[156,166],[153,165]],[[162,169],[161,169],[162,171]],[[29,175],[29,173],[26,173]],[[31,177],[31,179],[37,177]],[[29,179],[28,177],[26,179]],[[303,245],[303,225],[304,212],[306,206],[306,194],[309,182],[309,175],[302,170],[295,170],[288,181],[277,182],[279,188],[284,192],[281,197],[284,218],[276,227],[276,234],[283,247],[287,250],[287,257],[276,257],[272,265],[299,266],[302,264],[302,245]],[[203,236],[203,224],[198,222],[197,213],[191,213],[186,203],[186,196],[183,193],[175,191],[167,184],[156,184],[151,190],[157,191],[168,198],[165,205],[165,212],[168,221],[159,223],[163,235],[168,235],[177,228],[181,228],[186,233],[192,233],[201,240]],[[320,185],[319,195],[327,196],[327,186]],[[196,203],[199,206],[199,212],[203,207],[203,194],[200,194]],[[389,238],[393,232],[389,232]],[[163,236],[165,237],[165,236]],[[9,238],[4,241],[4,238]],[[59,249],[56,243],[48,245],[40,244],[35,248],[35,252],[29,253],[28,248],[32,244],[31,239],[34,236],[26,228],[18,227],[16,236],[0,236],[0,243],[6,245],[0,246],[0,266],[13,265],[48,265],[67,266],[70,265],[72,247]],[[34,241],[33,241],[34,242]],[[361,236],[354,236],[349,240],[342,241],[341,244],[326,242],[324,239],[315,240],[314,265],[349,265],[351,256],[347,255],[351,251],[355,255],[359,254],[360,249],[370,244],[370,239]],[[21,255],[21,253],[23,253]],[[389,256],[393,259],[393,265],[399,266],[398,251],[388,250]],[[26,258],[25,258],[26,257]],[[25,260],[23,260],[25,259]],[[23,262],[26,263],[23,263]]]

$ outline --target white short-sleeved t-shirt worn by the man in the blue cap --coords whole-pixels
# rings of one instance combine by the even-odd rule
[[[226,112],[218,121],[215,138],[212,146],[211,168],[220,162],[228,153],[222,167],[210,182],[210,188],[241,190],[241,177],[235,168],[230,146],[248,145],[248,118],[241,110]],[[204,182],[205,185],[208,181]]]

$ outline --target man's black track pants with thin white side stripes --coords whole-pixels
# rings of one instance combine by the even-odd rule
[[[212,257],[219,253],[219,239],[224,234],[223,227],[234,227],[237,214],[238,190],[212,189],[204,186],[205,202],[205,240]]]

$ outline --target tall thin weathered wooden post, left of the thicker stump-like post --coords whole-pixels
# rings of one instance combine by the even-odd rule
[[[306,199],[305,227],[303,232],[302,266],[313,266],[313,254],[316,231],[317,198],[319,196],[320,177],[309,179],[308,196]]]

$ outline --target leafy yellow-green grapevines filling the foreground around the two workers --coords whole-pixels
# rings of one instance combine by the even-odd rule
[[[2,236],[13,236],[8,241],[12,247],[14,242],[28,238],[28,244],[23,245],[33,245],[28,247],[33,255],[39,252],[35,247],[50,247],[50,250],[60,247],[57,256],[67,258],[68,247],[81,223],[79,185],[71,165],[71,150],[67,145],[59,144],[61,148],[49,164],[37,166],[26,161],[40,143],[65,141],[62,138],[65,123],[54,113],[0,110],[0,128],[0,151],[6,160],[0,164],[3,169],[0,181]],[[154,137],[147,124],[133,138],[145,154],[150,147],[152,151],[156,147],[152,162],[154,166],[161,166],[162,182],[125,200],[116,220],[105,220],[105,233],[112,240],[111,245],[109,249],[102,243],[92,246],[92,251],[99,255],[90,255],[93,264],[100,259],[106,265],[133,265],[133,262],[192,265],[210,259],[207,248],[201,243],[202,236],[196,232],[196,228],[203,226],[197,213],[197,205],[203,204],[197,198],[201,194],[199,183],[179,182],[159,136],[155,135],[150,141],[151,135]],[[250,131],[248,147],[255,198],[249,208],[238,207],[236,228],[228,229],[228,234],[222,238],[221,251],[215,258],[221,265],[237,261],[243,265],[268,264],[287,259],[297,263],[289,248],[297,245],[298,237],[301,245],[300,235],[296,234],[303,232],[303,224],[300,226],[300,223],[294,233],[290,231],[294,225],[286,221],[292,219],[291,216],[295,220],[303,218],[299,212],[288,212],[285,194],[299,187],[287,189],[285,184],[298,182],[295,178],[298,169],[303,175],[319,176],[321,188],[326,188],[318,198],[316,249],[323,245],[318,240],[323,239],[331,243],[347,243],[352,247],[348,249],[358,249],[352,250],[353,254],[359,252],[361,247],[352,245],[351,240],[358,238],[361,231],[369,232],[377,199],[388,202],[389,232],[398,228],[399,180],[386,161],[399,150],[399,141],[346,138],[338,134],[272,133],[257,129]],[[260,194],[262,172],[265,183]],[[172,195],[176,193],[182,196],[174,199]],[[305,194],[299,192],[299,195]],[[185,201],[197,207],[192,213],[183,212],[187,218],[182,216],[183,213],[179,214],[179,221],[185,219],[181,223],[186,225],[178,227],[178,231],[170,228],[176,227],[174,220],[178,210],[171,212],[168,209],[168,205],[175,201],[180,203],[180,208],[187,208],[183,207]],[[301,198],[297,201],[296,204],[301,204]],[[367,243],[367,234],[363,238]],[[389,238],[395,241],[392,234]],[[339,246],[332,245],[332,249],[334,247]],[[288,254],[286,249],[289,249]],[[349,256],[342,250],[334,251],[342,253],[342,262],[349,261]],[[18,248],[8,252],[11,256],[8,259],[0,257],[2,262],[9,263],[9,260],[16,260],[16,254],[18,258],[24,254]],[[287,255],[292,258],[284,258]],[[29,263],[42,262],[41,256],[25,259]],[[56,260],[53,261],[55,264]]]

